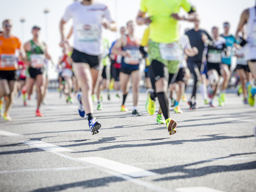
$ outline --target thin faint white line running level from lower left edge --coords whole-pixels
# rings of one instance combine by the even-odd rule
[[[36,172],[36,171],[69,171],[69,170],[80,170],[80,169],[88,169],[93,166],[84,166],[84,167],[56,167],[56,168],[44,168],[44,169],[20,169],[20,170],[8,170],[8,171],[0,171],[2,173],[16,173],[16,172]]]

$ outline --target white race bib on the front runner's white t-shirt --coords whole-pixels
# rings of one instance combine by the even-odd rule
[[[99,26],[97,24],[79,24],[76,27],[78,43],[91,43],[99,41]]]

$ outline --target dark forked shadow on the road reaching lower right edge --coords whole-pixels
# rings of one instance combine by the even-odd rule
[[[225,159],[225,158],[232,157],[232,156],[250,155],[250,154],[255,154],[255,153],[232,154],[230,156],[221,157],[221,158],[217,158],[217,159]],[[192,169],[188,168],[188,166],[203,164],[203,163],[207,163],[207,162],[214,161],[214,160],[216,160],[216,159],[199,161],[196,163],[185,164],[185,165],[165,167],[165,168],[161,168],[161,169],[153,169],[153,170],[149,170],[149,171],[156,172],[159,174],[167,174],[167,173],[177,174],[179,172],[181,172],[183,174],[183,175],[164,177],[164,178],[154,180],[154,181],[164,181],[164,180],[188,179],[188,178],[193,178],[193,177],[200,177],[200,176],[217,173],[217,172],[220,173],[220,172],[231,172],[231,171],[256,169],[256,161],[253,161],[250,163],[242,163],[242,164],[213,165],[213,166],[206,166],[206,167],[192,168]]]

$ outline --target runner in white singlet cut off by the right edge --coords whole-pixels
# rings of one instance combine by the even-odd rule
[[[247,24],[247,48],[245,50],[245,59],[248,61],[248,66],[252,72],[254,78],[256,77],[256,6],[244,10],[241,15],[241,19],[236,31],[236,37],[238,37],[239,31]],[[248,92],[248,103],[253,106],[256,94],[256,86],[252,82],[246,84]]]

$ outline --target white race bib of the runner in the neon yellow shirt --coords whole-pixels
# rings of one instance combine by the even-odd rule
[[[159,44],[161,58],[167,61],[179,61],[182,57],[182,50],[179,44]]]

